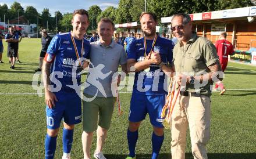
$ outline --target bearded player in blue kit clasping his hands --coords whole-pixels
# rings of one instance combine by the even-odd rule
[[[134,159],[138,128],[149,114],[153,127],[152,157],[157,158],[163,143],[161,111],[167,95],[167,81],[172,63],[172,41],[156,34],[157,17],[144,12],[140,16],[141,30],[145,37],[131,42],[127,55],[127,70],[136,72],[130,101],[127,140],[129,156]]]

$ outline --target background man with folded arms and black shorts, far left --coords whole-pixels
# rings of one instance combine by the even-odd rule
[[[9,27],[8,34],[5,35],[5,42],[8,42],[7,56],[10,61],[10,68],[15,68],[15,57],[17,57],[17,43],[19,41],[19,35],[15,34],[13,27]]]

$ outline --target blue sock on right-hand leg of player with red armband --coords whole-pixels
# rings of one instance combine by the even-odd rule
[[[62,136],[62,142],[63,142],[63,152],[64,153],[70,153],[73,143],[73,133],[74,129],[69,130],[63,128],[63,136]]]

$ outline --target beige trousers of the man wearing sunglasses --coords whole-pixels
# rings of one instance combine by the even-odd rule
[[[172,114],[172,159],[184,159],[187,126],[190,129],[191,147],[194,158],[207,158],[205,145],[210,137],[210,98],[181,96]]]

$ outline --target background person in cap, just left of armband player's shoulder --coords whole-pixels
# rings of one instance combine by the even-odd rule
[[[52,38],[47,34],[47,30],[43,29],[42,30],[42,39],[41,39],[41,44],[42,44],[42,49],[39,57],[39,67],[35,72],[37,71],[42,71],[42,61],[44,60],[44,56],[47,52],[47,48],[51,42]]]

